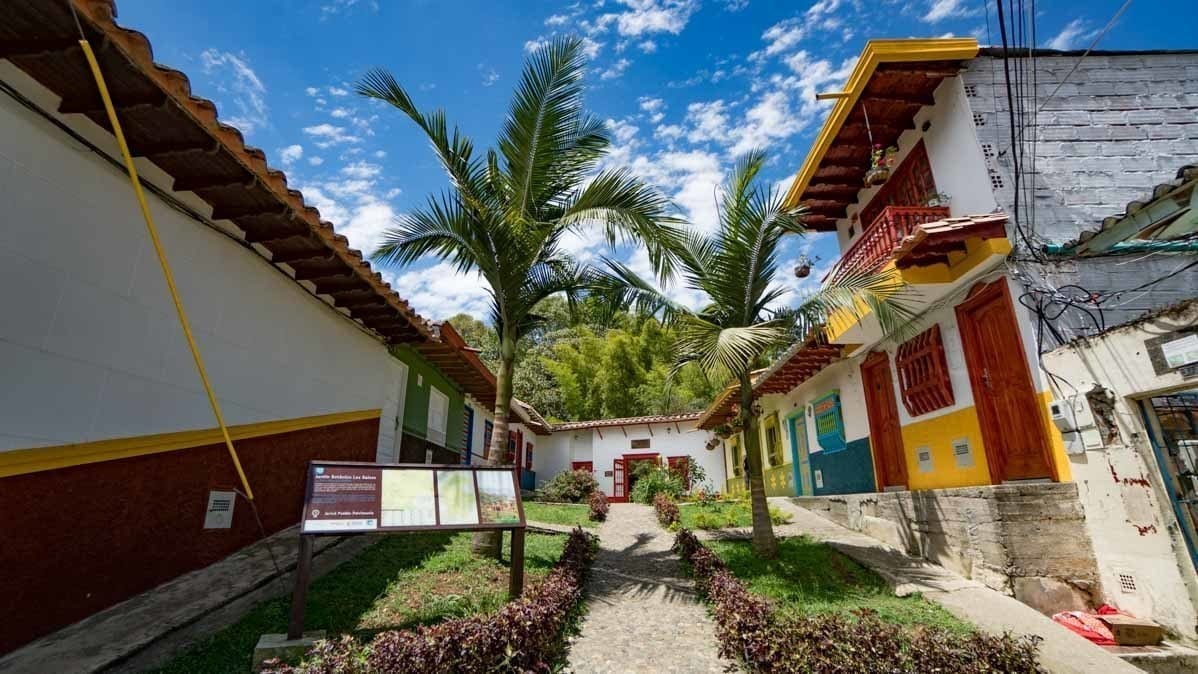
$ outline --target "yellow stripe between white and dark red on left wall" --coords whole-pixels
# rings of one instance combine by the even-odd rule
[[[367,419],[377,419],[381,415],[382,409],[358,409],[355,412],[337,412],[315,417],[242,424],[229,426],[229,436],[232,439],[241,441],[292,431],[304,431],[320,426],[347,424],[350,421],[364,421]],[[0,478],[83,466],[85,463],[115,461],[117,459],[131,459],[149,454],[162,454],[193,447],[222,444],[223,442],[224,436],[220,429],[217,427],[0,451]]]

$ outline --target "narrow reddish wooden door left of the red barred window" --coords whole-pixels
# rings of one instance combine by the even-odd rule
[[[898,403],[890,378],[890,357],[884,351],[870,354],[861,364],[865,407],[870,417],[870,444],[878,491],[907,486],[907,456],[902,447]]]

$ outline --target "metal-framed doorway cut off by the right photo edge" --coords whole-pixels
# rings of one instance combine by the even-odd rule
[[[1142,405],[1161,481],[1198,566],[1198,389],[1156,395]]]

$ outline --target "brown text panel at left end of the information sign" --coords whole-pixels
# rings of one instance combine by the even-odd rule
[[[362,532],[379,527],[379,469],[315,466],[304,504],[304,532]]]

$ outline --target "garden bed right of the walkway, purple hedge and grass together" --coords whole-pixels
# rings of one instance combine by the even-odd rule
[[[689,530],[676,539],[712,603],[720,655],[750,672],[1043,672],[1034,638],[975,632],[919,597],[891,603],[881,578],[827,546],[780,544],[761,560],[749,544],[713,546],[718,554]]]

